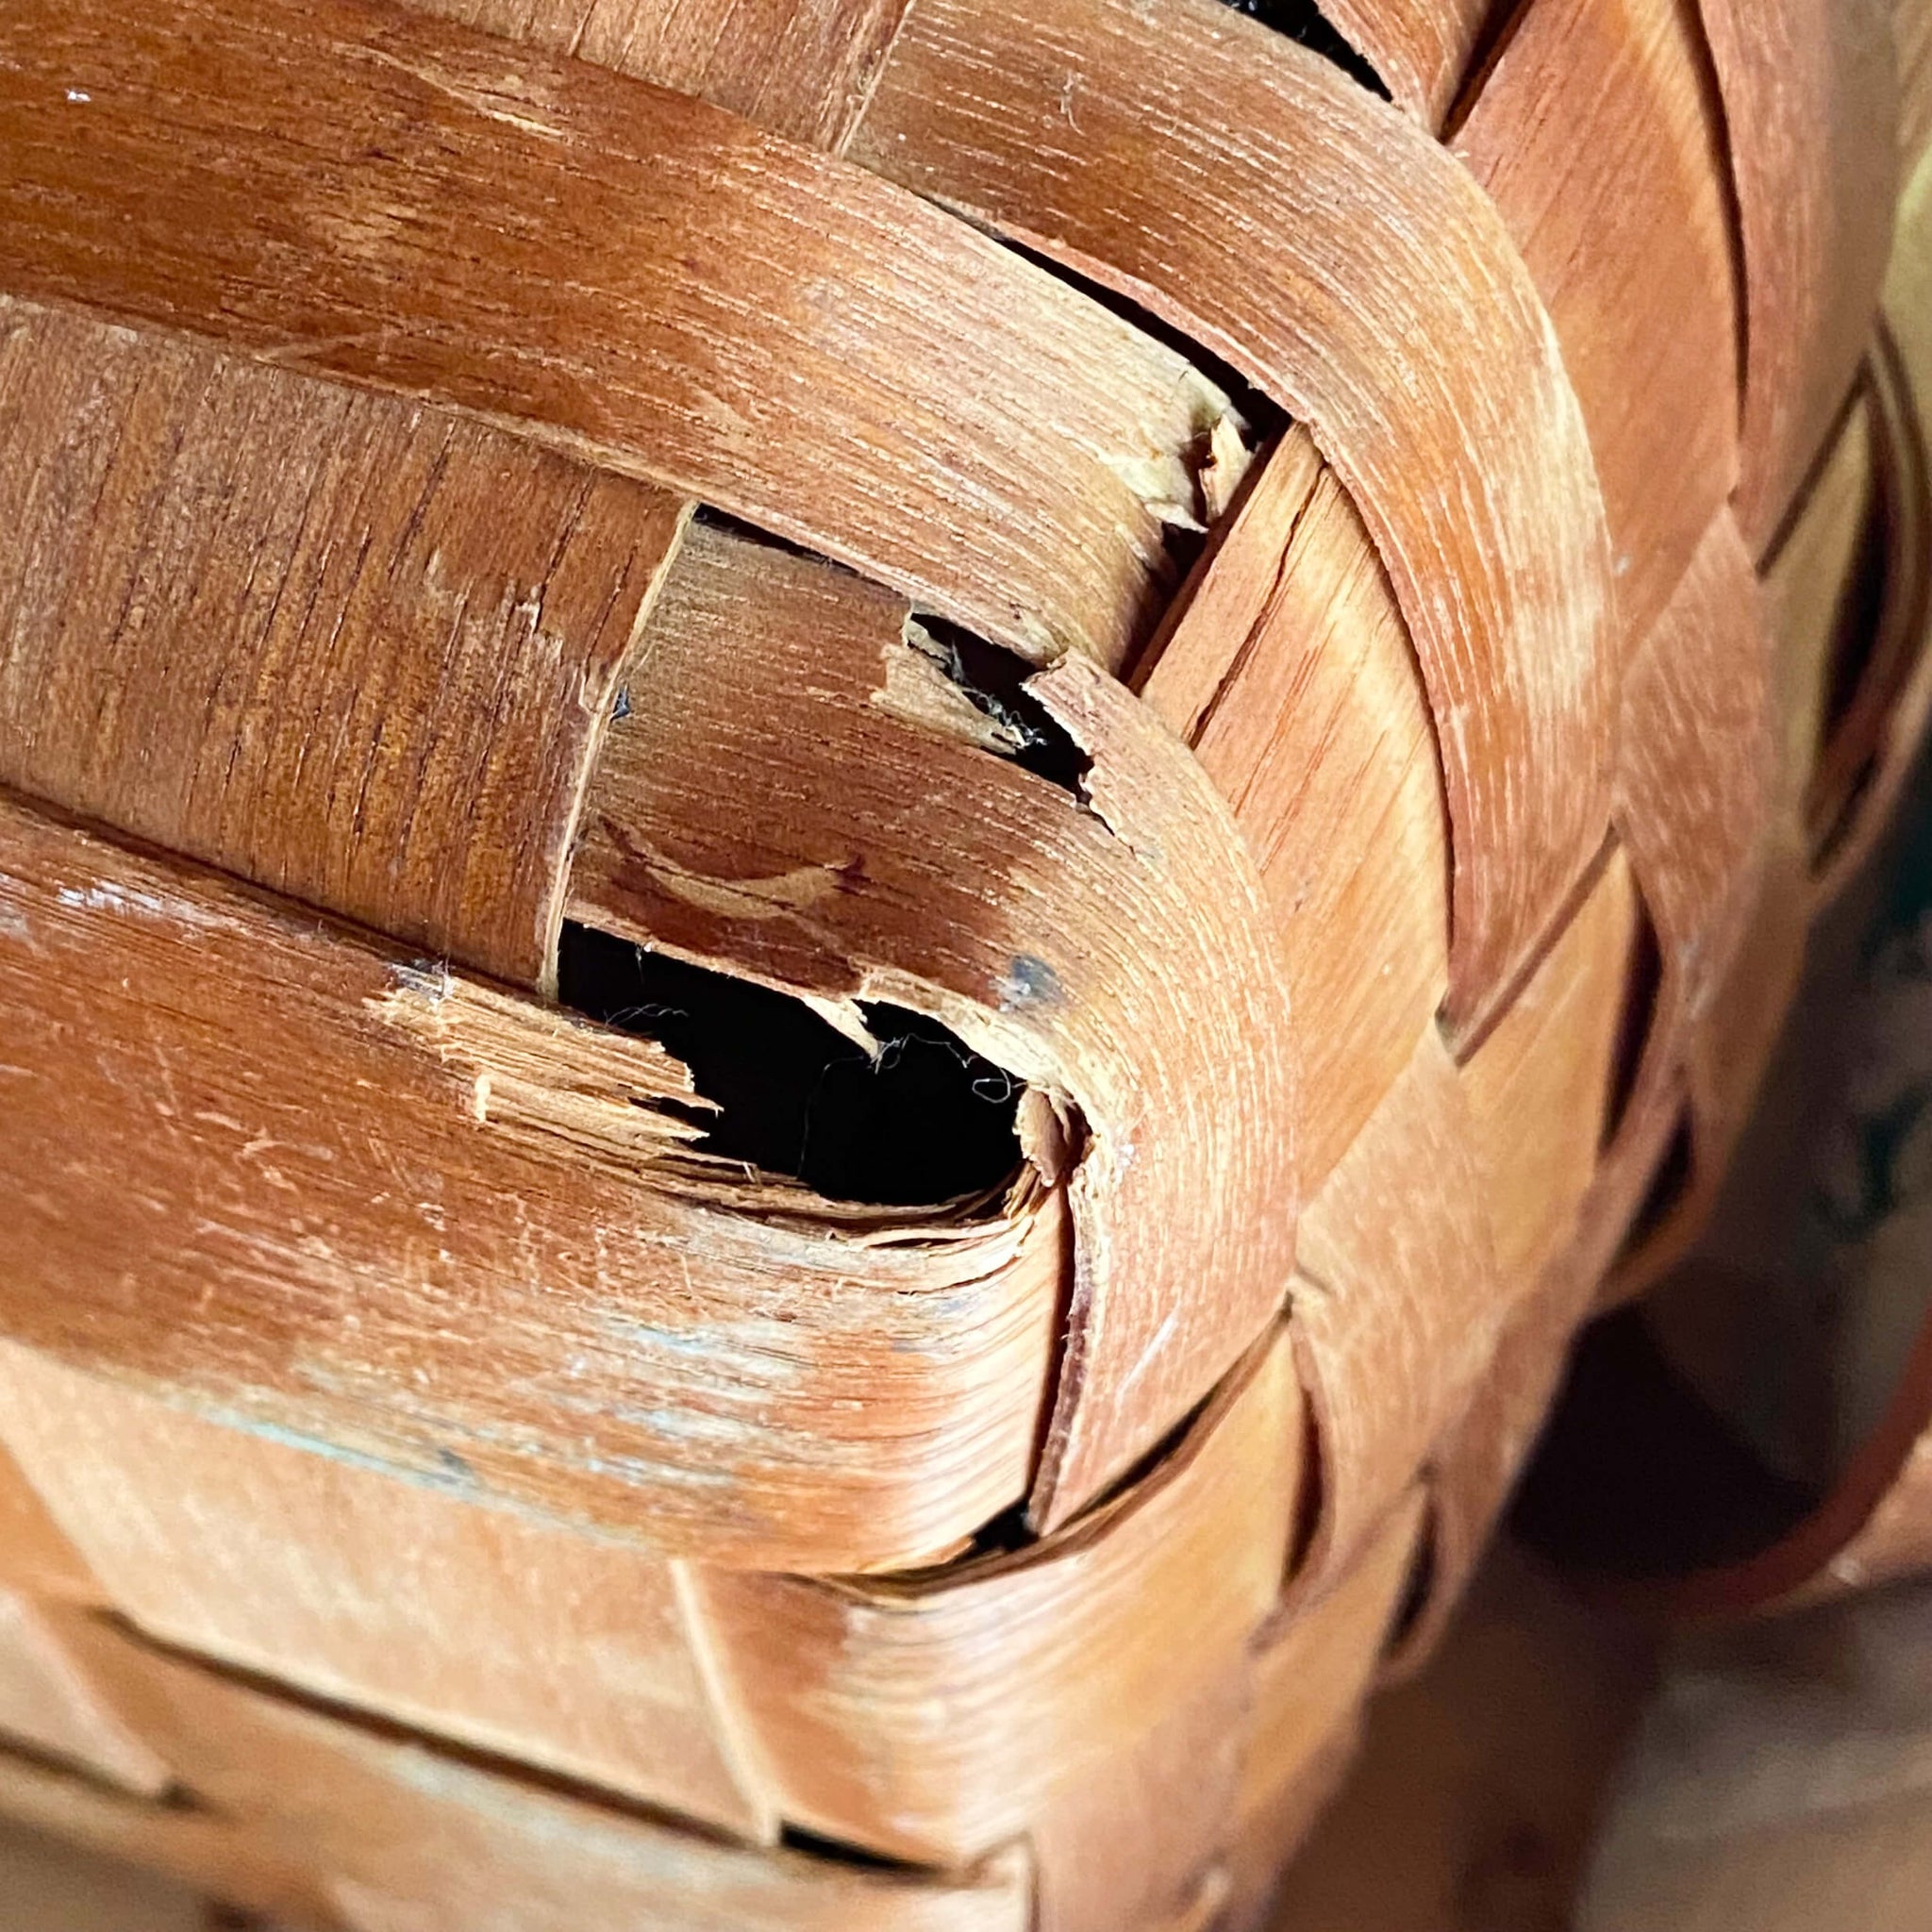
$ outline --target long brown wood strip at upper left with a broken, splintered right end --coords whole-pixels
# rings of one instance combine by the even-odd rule
[[[359,0],[19,0],[0,139],[0,286],[481,413],[1036,659],[1138,641],[1227,408],[856,168]]]

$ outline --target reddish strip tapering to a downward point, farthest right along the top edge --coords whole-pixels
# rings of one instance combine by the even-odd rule
[[[1745,257],[1737,520],[1764,556],[1845,406],[1897,193],[1891,0],[1700,0]]]

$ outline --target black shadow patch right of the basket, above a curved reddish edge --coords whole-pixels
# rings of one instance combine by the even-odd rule
[[[1577,1347],[1511,1526],[1569,1567],[1654,1580],[1754,1557],[1820,1499],[1696,1393],[1640,1308],[1619,1308]]]

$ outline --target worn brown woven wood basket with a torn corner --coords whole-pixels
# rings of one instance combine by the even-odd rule
[[[1932,696],[1932,10],[1325,15],[8,0],[0,1808],[1265,1909]]]

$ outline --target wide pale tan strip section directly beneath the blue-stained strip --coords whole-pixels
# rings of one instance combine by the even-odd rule
[[[170,1644],[761,1841],[672,1567],[0,1343],[0,1439]]]

